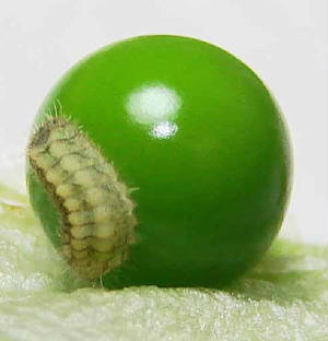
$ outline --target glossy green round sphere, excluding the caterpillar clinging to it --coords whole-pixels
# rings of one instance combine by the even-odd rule
[[[54,87],[36,122],[70,117],[133,189],[136,240],[106,287],[221,286],[277,235],[290,192],[286,128],[269,91],[213,45],[143,36],[98,50]],[[27,167],[58,247],[60,214]],[[108,203],[109,204],[109,203]]]

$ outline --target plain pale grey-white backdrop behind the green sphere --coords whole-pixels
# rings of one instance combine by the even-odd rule
[[[73,63],[136,35],[194,36],[244,60],[276,95],[295,161],[283,233],[326,244],[327,12],[326,0],[0,0],[0,181],[24,181],[33,117]]]

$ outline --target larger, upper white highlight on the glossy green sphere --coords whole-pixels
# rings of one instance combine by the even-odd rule
[[[127,110],[138,124],[154,125],[176,117],[181,99],[175,90],[159,83],[132,92]]]

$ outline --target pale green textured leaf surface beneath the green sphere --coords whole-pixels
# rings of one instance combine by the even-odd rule
[[[84,287],[0,187],[1,340],[326,340],[327,249],[278,240],[224,291]]]

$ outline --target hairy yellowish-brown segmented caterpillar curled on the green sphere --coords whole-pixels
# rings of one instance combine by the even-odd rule
[[[82,278],[118,267],[134,242],[134,203],[99,149],[65,117],[32,136],[30,164],[60,212],[62,254]]]

